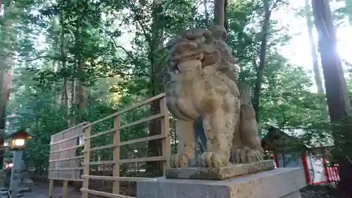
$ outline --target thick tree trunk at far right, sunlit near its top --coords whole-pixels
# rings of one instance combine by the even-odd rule
[[[329,116],[333,124],[332,135],[339,162],[339,192],[342,197],[352,197],[352,120],[350,102],[341,59],[337,54],[335,27],[329,0],[312,0],[314,24],[318,31],[318,49],[325,78]]]

